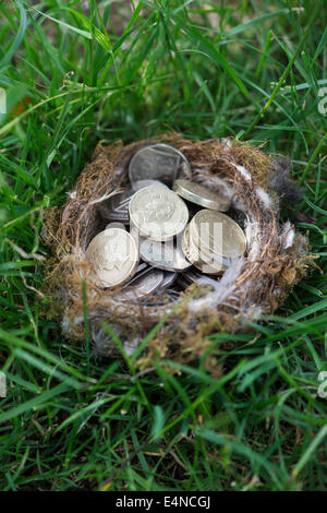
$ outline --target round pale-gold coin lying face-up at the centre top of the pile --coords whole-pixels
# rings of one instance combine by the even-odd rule
[[[189,210],[173,191],[158,186],[135,192],[129,205],[130,220],[141,237],[165,241],[183,231]]]

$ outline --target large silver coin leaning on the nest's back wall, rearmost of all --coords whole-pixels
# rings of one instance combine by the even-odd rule
[[[138,150],[132,157],[129,176],[132,186],[138,180],[161,180],[171,186],[180,175],[190,175],[186,157],[168,144],[152,144]]]

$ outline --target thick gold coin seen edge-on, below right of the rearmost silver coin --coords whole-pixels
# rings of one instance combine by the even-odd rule
[[[175,180],[173,190],[184,200],[196,203],[214,211],[226,212],[230,207],[229,198],[219,192],[211,191],[207,187],[201,186],[190,180]]]

